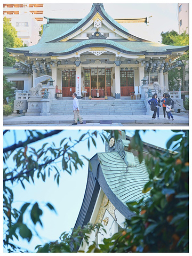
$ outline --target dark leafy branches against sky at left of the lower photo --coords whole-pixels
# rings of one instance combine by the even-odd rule
[[[54,177],[54,181],[59,186],[61,172],[69,174],[76,171],[79,167],[84,165],[83,159],[89,161],[86,156],[78,155],[74,147],[87,141],[87,147],[90,149],[91,144],[96,147],[97,137],[101,137],[104,142],[107,138],[105,133],[98,131],[87,131],[81,135],[78,140],[72,138],[62,138],[60,146],[55,146],[55,143],[42,143],[42,147],[36,150],[31,147],[31,143],[42,141],[44,138],[52,137],[55,134],[61,133],[62,130],[53,131],[23,131],[27,135],[25,141],[13,143],[11,146],[4,148],[4,170],[3,170],[3,191],[4,191],[4,247],[9,252],[20,250],[12,241],[13,239],[26,239],[28,242],[34,235],[34,230],[31,230],[28,222],[24,221],[29,213],[30,219],[35,226],[39,223],[43,226],[42,214],[43,210],[38,202],[25,202],[20,209],[13,207],[14,193],[12,187],[20,183],[23,189],[26,183],[34,183],[37,179],[42,179],[44,182],[46,178]],[[4,131],[4,136],[10,133],[9,130]],[[13,164],[10,165],[10,161]],[[11,167],[13,166],[13,167]],[[91,166],[90,166],[91,167]],[[53,205],[46,204],[51,211],[55,211]],[[22,251],[22,250],[20,250]]]

